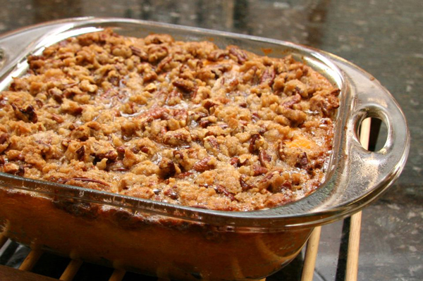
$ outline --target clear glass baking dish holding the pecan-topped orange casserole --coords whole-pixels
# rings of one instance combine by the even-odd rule
[[[314,226],[349,216],[400,175],[410,148],[405,117],[391,94],[357,66],[290,42],[119,18],[72,18],[0,37],[0,90],[25,74],[28,55],[68,37],[112,27],[125,36],[168,33],[177,40],[235,44],[256,54],[293,55],[341,89],[326,181],[299,201],[250,212],[176,206],[0,173],[6,237],[57,254],[176,280],[260,279],[291,261]],[[364,118],[386,123],[377,152],[362,148]]]

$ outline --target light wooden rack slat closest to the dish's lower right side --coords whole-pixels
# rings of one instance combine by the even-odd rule
[[[305,250],[304,267],[302,268],[301,281],[312,281],[314,266],[316,266],[317,250],[319,249],[321,227],[314,227],[312,235],[307,242]]]

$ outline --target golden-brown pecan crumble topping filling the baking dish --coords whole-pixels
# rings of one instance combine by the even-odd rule
[[[111,30],[29,56],[0,93],[0,171],[252,211],[321,185],[339,90],[291,56]]]

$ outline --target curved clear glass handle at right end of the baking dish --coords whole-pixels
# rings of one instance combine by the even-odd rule
[[[346,166],[351,177],[360,178],[355,181],[359,185],[354,185],[351,190],[347,187],[344,196],[351,198],[350,192],[374,196],[380,192],[369,194],[370,187],[381,191],[386,189],[403,170],[410,150],[407,120],[393,96],[372,75],[342,59],[338,59],[336,64],[348,77],[348,87],[353,96],[350,105],[352,114],[346,119],[344,136],[348,153],[345,161],[350,162]],[[379,118],[386,124],[386,143],[379,151],[368,151],[360,144],[358,128],[365,118]],[[358,196],[353,198],[359,199]]]

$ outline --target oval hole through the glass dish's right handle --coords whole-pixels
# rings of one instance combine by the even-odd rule
[[[364,149],[380,151],[388,139],[388,127],[384,120],[377,117],[367,117],[357,126],[357,135]]]

